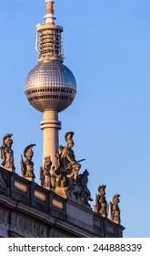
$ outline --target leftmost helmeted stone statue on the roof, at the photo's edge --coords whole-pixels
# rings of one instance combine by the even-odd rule
[[[12,133],[7,133],[3,137],[3,145],[0,147],[2,163],[1,165],[10,172],[15,172],[14,152],[12,150]]]

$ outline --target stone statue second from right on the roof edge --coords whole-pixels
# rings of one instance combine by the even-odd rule
[[[95,197],[95,212],[101,214],[103,217],[107,217],[107,201],[105,199],[105,185],[98,187],[99,194]]]

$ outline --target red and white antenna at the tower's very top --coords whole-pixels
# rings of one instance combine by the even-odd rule
[[[46,14],[45,14],[45,24],[55,25],[54,16],[54,0],[45,0],[46,4]]]

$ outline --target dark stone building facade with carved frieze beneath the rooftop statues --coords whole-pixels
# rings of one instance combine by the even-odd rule
[[[120,238],[124,227],[0,167],[1,238]]]

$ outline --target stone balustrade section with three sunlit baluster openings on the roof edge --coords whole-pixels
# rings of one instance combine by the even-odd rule
[[[35,208],[45,210],[51,215],[59,216],[60,219],[65,219],[65,198],[2,167],[0,167],[0,179],[3,179],[4,184],[3,187],[0,186],[1,192]]]

